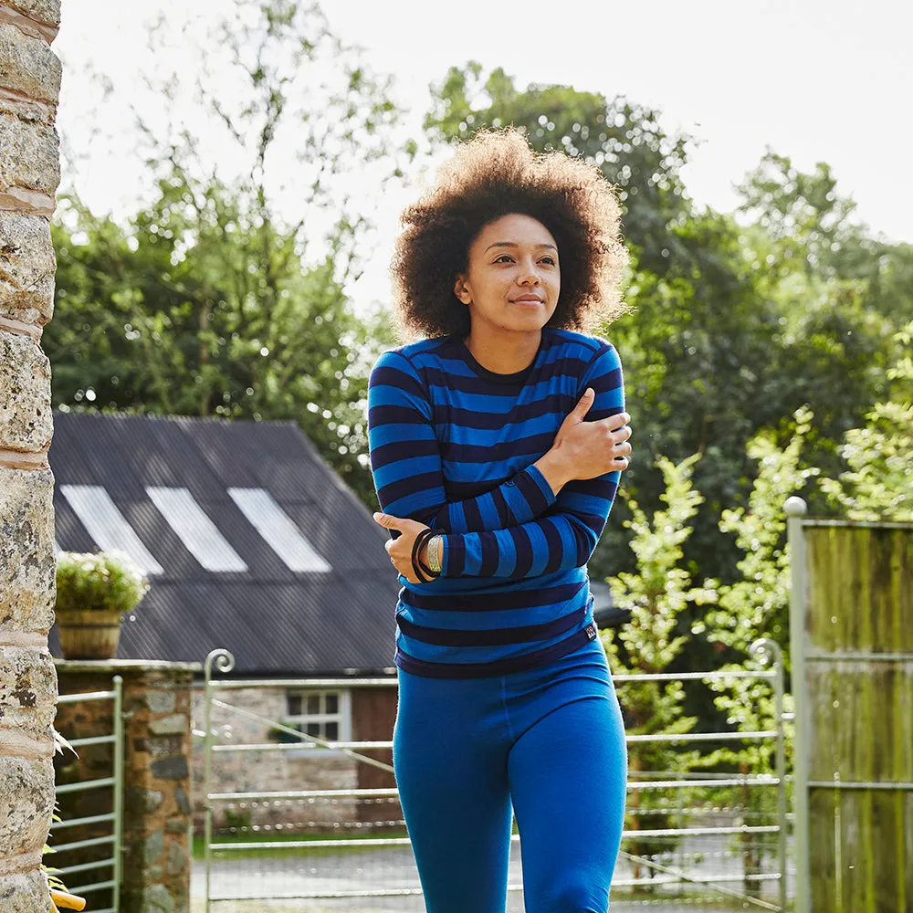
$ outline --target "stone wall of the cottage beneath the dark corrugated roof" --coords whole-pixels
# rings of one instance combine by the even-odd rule
[[[394,687],[350,689],[352,740],[389,740],[393,737],[396,709]],[[231,688],[216,691],[215,698],[257,717],[281,722],[286,716],[286,690],[274,687]],[[204,729],[204,690],[194,691],[194,730]],[[269,725],[214,706],[212,729],[221,744],[256,745],[275,743]],[[225,727],[230,727],[226,730]],[[365,751],[386,763],[390,750]],[[203,826],[203,740],[194,739],[193,755],[194,822]],[[354,790],[394,786],[391,773],[359,763],[347,755],[329,750],[293,748],[283,750],[213,752],[211,792],[288,792],[291,790]],[[385,799],[310,798],[305,800],[236,801],[213,803],[216,832],[232,828],[261,830],[355,831],[370,822],[398,821],[398,803]]]

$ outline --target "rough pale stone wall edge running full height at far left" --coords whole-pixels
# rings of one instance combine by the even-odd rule
[[[60,0],[0,0],[0,906],[47,913],[38,866],[54,807],[54,477],[49,219],[59,183],[54,129]]]

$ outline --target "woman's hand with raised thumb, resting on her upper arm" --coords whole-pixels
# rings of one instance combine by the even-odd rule
[[[551,450],[537,461],[556,493],[572,479],[595,478],[628,466],[631,416],[623,412],[584,422],[594,399],[593,389],[588,387],[561,423]]]

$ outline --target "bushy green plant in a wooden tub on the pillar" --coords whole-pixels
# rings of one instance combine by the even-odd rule
[[[122,551],[61,551],[55,612],[64,658],[114,656],[121,618],[148,590],[142,569]]]

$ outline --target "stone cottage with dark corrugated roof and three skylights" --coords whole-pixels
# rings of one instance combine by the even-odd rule
[[[214,677],[213,792],[384,789],[396,708],[386,532],[293,422],[54,416],[57,550],[120,549],[152,584],[121,625],[119,659],[202,663]],[[56,626],[48,643],[60,656]],[[367,679],[367,680],[366,680]],[[257,684],[253,684],[253,683]],[[194,684],[194,808],[202,810],[204,687]],[[250,746],[261,746],[251,748]],[[269,746],[265,749],[262,746]],[[217,831],[398,824],[389,797],[214,803]],[[382,824],[383,823],[383,824]]]

